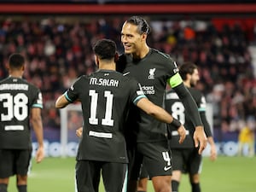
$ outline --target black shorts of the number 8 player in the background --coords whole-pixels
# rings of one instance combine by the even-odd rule
[[[195,175],[201,172],[201,154],[197,148],[172,148],[172,169]]]

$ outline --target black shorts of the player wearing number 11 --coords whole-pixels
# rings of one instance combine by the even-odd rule
[[[78,160],[76,163],[76,188],[78,192],[98,192],[102,179],[106,191],[126,191],[127,164],[94,160]]]

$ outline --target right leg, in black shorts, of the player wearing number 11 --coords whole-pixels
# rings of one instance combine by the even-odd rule
[[[128,165],[125,163],[105,163],[102,179],[106,191],[120,192],[127,188]]]

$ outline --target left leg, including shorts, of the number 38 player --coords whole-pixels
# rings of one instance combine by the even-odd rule
[[[9,177],[14,175],[14,154],[12,150],[0,150],[0,192],[7,192]]]

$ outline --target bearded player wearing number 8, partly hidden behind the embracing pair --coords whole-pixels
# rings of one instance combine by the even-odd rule
[[[205,96],[200,90],[196,90],[194,86],[197,84],[199,72],[194,63],[186,62],[179,67],[179,73],[184,84],[195,99],[198,111],[201,114],[201,119],[207,135],[208,143],[211,147],[210,159],[215,160],[217,157],[215,143],[212,137],[212,131],[206,117],[207,103]],[[201,154],[198,154],[198,148],[195,148],[193,141],[194,125],[190,118],[190,113],[187,113],[183,107],[183,103],[178,98],[173,90],[166,91],[166,110],[172,113],[172,116],[179,119],[185,126],[187,137],[183,143],[177,143],[179,137],[175,127],[170,126],[172,131],[172,139],[170,147],[172,149],[172,191],[178,191],[178,185],[183,172],[189,173],[189,181],[191,183],[192,192],[201,192],[200,188],[200,173],[201,173]]]

